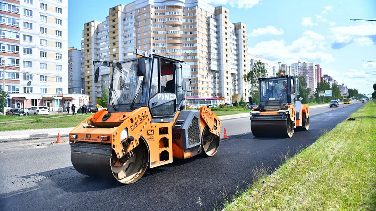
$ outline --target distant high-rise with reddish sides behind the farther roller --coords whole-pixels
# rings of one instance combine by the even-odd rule
[[[311,89],[309,96],[313,95],[317,88],[317,67],[313,63],[297,62],[291,64],[291,70],[295,75],[306,77],[307,87]]]

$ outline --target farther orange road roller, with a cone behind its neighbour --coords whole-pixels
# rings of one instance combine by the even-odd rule
[[[294,129],[309,129],[309,107],[296,99],[298,84],[291,75],[259,78],[259,105],[250,111],[253,136],[290,138]]]

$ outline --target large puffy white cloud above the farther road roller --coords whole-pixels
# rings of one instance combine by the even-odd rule
[[[262,41],[249,48],[249,53],[282,63],[298,61],[312,63],[333,62],[332,54],[321,51],[325,46],[325,37],[316,32],[305,31],[299,39],[287,45],[284,40]]]

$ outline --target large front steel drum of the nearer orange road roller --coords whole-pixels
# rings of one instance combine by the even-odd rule
[[[73,167],[80,173],[96,178],[130,184],[139,180],[149,164],[144,142],[118,159],[110,145],[71,143]]]

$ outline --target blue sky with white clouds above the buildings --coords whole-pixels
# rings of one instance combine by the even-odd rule
[[[320,64],[323,74],[339,84],[359,93],[373,92],[376,21],[350,19],[376,20],[375,0],[207,1],[228,8],[233,23],[247,25],[250,53],[288,65],[298,61]],[[68,45],[79,49],[84,23],[104,21],[109,8],[130,2],[70,0]]]

